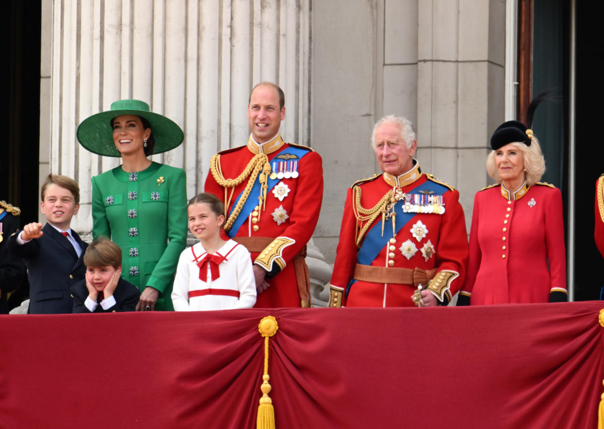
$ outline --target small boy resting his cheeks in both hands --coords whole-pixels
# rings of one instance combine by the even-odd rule
[[[120,278],[121,250],[109,239],[94,240],[84,254],[86,279],[71,287],[74,313],[135,311],[141,292]]]

